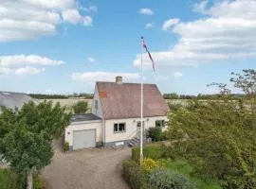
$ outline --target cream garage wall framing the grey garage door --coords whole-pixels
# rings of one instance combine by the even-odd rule
[[[71,123],[71,125],[65,129],[64,141],[68,142],[69,146],[73,146],[73,131],[85,129],[96,129],[96,142],[102,142],[101,120]]]

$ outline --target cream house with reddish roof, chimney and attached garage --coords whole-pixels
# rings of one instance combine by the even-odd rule
[[[143,85],[143,125],[165,128],[168,105],[155,84]],[[128,144],[140,131],[140,84],[96,82],[92,113],[75,114],[65,130],[69,149]]]

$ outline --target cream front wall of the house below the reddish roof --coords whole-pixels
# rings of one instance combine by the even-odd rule
[[[145,129],[155,127],[156,120],[167,121],[167,116],[144,117]],[[118,141],[126,141],[132,139],[137,134],[137,121],[140,118],[129,119],[111,119],[105,120],[105,143],[112,143]],[[124,132],[114,132],[115,123],[125,123],[126,130]]]

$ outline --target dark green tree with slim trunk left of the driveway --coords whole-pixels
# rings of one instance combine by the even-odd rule
[[[30,101],[20,111],[2,109],[0,114],[0,153],[10,168],[32,188],[32,176],[50,163],[53,156],[51,141],[64,134],[71,114],[59,103],[38,105]]]

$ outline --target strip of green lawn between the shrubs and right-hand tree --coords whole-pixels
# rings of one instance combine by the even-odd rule
[[[193,169],[192,166],[183,160],[166,160],[161,159],[157,161],[161,166],[170,168],[177,173],[181,173],[189,177],[191,180],[197,183],[198,188],[200,189],[221,189],[221,186],[213,181],[201,180],[192,175]]]

